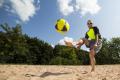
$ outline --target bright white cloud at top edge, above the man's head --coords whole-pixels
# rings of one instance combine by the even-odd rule
[[[75,8],[82,15],[86,13],[96,14],[101,9],[97,0],[76,0]]]

